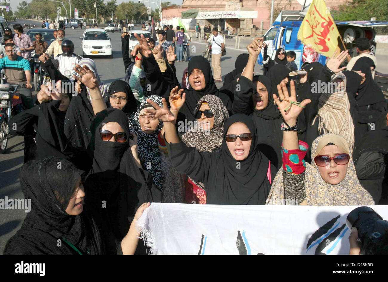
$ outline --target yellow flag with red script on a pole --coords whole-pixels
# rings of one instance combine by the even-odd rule
[[[311,3],[300,25],[298,40],[326,57],[331,57],[336,50],[340,52],[341,36],[324,0]]]

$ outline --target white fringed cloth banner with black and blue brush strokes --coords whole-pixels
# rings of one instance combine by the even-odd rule
[[[138,221],[153,254],[349,254],[356,206],[151,203]],[[388,219],[388,206],[371,206]]]

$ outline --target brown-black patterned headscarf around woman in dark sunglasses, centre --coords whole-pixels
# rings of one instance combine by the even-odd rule
[[[220,151],[223,138],[223,125],[229,113],[222,100],[215,95],[205,95],[199,99],[195,108],[196,114],[201,104],[206,102],[214,114],[214,126],[211,130],[202,130],[199,123],[182,135],[187,147],[196,147],[200,152]]]

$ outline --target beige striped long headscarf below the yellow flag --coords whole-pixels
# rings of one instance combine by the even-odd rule
[[[334,81],[341,79],[344,83],[343,89],[334,88]],[[318,118],[318,131],[326,133],[334,133],[345,138],[350,147],[350,154],[353,152],[354,146],[354,125],[350,115],[350,103],[346,89],[346,77],[343,73],[335,73],[331,76],[331,81],[326,93],[322,93],[319,97],[318,113],[315,116],[312,125]],[[330,91],[331,90],[331,91]],[[334,92],[335,91],[335,92]],[[334,92],[334,93],[333,93]]]

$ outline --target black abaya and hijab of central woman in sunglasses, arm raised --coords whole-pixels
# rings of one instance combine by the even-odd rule
[[[244,123],[253,135],[249,155],[236,161],[226,141],[221,152],[199,152],[184,142],[166,144],[175,168],[206,187],[207,204],[265,204],[271,188],[267,179],[269,161],[256,147],[256,127],[249,116],[235,114],[225,122],[224,135],[233,123]],[[271,182],[277,170],[270,166]]]

